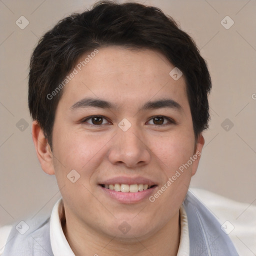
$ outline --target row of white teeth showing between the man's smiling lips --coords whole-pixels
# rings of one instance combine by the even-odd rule
[[[156,184],[148,185],[148,184],[143,184],[143,183],[140,183],[140,184],[115,183],[115,184],[99,184],[99,185],[106,189],[114,190],[116,192],[124,192],[124,193],[136,193],[136,192],[140,192],[143,190],[148,190],[148,189],[156,186]]]

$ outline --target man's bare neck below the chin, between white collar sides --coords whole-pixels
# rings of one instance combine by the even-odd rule
[[[79,223],[77,219],[69,216],[67,212],[62,213],[61,224],[65,237],[76,256],[175,256],[178,251],[179,212],[166,225],[146,238],[133,236],[134,238],[124,240],[116,236],[110,237],[102,232],[91,230],[84,223]]]

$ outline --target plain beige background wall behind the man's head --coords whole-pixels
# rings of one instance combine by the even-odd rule
[[[60,196],[55,177],[40,169],[32,143],[27,107],[29,58],[39,36],[60,18],[93,2],[0,0],[0,226],[49,212]],[[144,3],[160,7],[177,20],[195,39],[210,69],[211,122],[191,186],[256,204],[256,1]],[[24,29],[15,24],[21,15],[29,21]],[[229,29],[220,23],[226,15],[234,21]],[[23,131],[16,127],[21,118],[28,123]],[[233,123],[228,131],[221,127],[226,118]]]

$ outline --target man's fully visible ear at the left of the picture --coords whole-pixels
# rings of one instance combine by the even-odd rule
[[[54,174],[53,155],[43,130],[37,121],[32,122],[32,138],[41,168],[49,175]]]

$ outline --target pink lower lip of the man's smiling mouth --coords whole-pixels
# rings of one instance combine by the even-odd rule
[[[136,203],[142,201],[143,199],[148,198],[150,194],[153,193],[153,191],[156,189],[156,187],[157,186],[153,186],[138,192],[120,192],[100,186],[104,193],[122,203]]]

